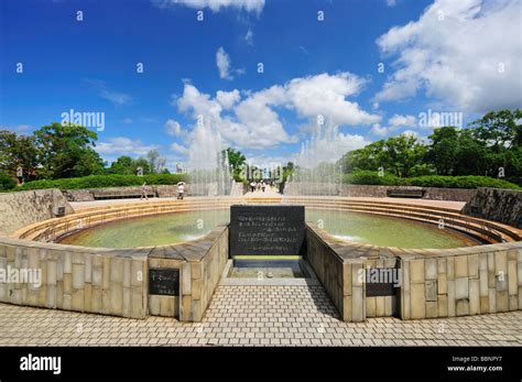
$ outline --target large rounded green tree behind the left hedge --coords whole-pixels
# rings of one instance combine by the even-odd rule
[[[105,163],[94,150],[98,135],[81,125],[54,122],[34,132],[42,175],[47,178],[102,174]]]

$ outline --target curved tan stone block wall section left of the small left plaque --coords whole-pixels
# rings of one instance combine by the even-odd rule
[[[131,318],[146,316],[146,253],[137,250],[126,253],[2,238],[0,269],[11,274],[40,271],[40,285],[33,283],[34,279],[0,282],[3,303]]]

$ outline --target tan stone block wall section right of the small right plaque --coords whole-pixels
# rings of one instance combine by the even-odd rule
[[[404,277],[402,319],[469,316],[522,307],[522,242],[452,252],[400,255]]]

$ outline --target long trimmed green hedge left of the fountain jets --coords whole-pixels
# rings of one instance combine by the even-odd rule
[[[59,189],[83,189],[102,187],[127,187],[141,186],[143,182],[149,185],[173,185],[178,182],[187,182],[186,174],[149,174],[138,175],[90,175],[84,177],[72,177],[55,181],[33,181],[26,182],[17,190],[59,188]]]

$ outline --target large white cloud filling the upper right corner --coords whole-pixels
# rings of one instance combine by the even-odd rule
[[[396,59],[376,100],[423,90],[461,111],[520,107],[521,24],[518,0],[436,0],[417,21],[378,39],[381,52]]]

